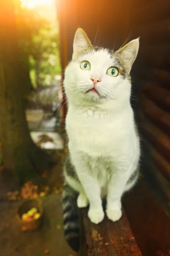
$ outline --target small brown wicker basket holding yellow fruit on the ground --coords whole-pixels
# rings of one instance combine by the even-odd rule
[[[28,212],[33,207],[37,208],[38,212],[40,213],[40,218],[33,219],[28,222],[23,221],[22,215]],[[21,229],[23,231],[37,230],[40,227],[40,224],[42,222],[42,214],[43,214],[43,207],[42,207],[42,201],[40,200],[40,198],[25,201],[23,204],[20,205],[17,211],[17,218],[22,224]]]

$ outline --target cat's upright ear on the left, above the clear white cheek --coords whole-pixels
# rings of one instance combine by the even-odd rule
[[[91,41],[83,29],[77,29],[73,43],[73,59],[79,55],[79,52],[88,48],[93,48]]]

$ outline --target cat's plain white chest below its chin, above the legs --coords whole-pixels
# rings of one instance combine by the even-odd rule
[[[70,145],[95,157],[116,153],[127,137],[123,118],[111,118],[93,109],[79,116],[68,112],[66,129]]]

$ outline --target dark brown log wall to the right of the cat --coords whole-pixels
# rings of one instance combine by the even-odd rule
[[[140,36],[132,77],[142,151],[152,163],[147,171],[170,198],[170,1],[133,1],[131,26]]]

